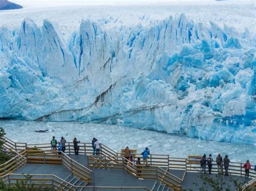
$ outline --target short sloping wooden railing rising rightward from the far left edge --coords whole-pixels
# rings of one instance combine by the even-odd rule
[[[26,160],[27,160],[26,155],[27,155],[27,152],[23,151],[22,153],[16,155],[14,158],[0,165],[0,176],[14,172],[16,171],[16,169],[26,164]]]

